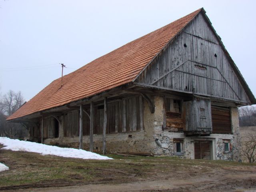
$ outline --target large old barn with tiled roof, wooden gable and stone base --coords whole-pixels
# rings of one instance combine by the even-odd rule
[[[238,160],[237,107],[251,104],[201,8],[54,80],[8,120],[45,144]]]

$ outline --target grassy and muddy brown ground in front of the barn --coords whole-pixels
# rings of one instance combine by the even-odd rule
[[[0,146],[1,147],[1,146]],[[256,165],[168,157],[81,160],[0,150],[0,190],[19,192],[256,191]]]

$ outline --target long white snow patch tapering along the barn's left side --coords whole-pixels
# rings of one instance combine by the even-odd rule
[[[5,147],[2,149],[12,151],[26,151],[34,152],[42,155],[56,155],[60,157],[68,158],[81,158],[81,159],[98,159],[98,160],[109,160],[112,158],[101,156],[96,153],[92,153],[82,149],[74,148],[61,148],[57,146],[50,146],[29,141],[20,141],[18,139],[10,139],[7,137],[0,137],[0,143]]]

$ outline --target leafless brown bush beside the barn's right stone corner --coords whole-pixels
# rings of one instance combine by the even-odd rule
[[[256,162],[256,131],[242,138],[241,155],[250,163]]]

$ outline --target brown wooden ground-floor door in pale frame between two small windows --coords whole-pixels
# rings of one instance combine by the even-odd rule
[[[194,142],[195,159],[212,160],[212,141],[199,140]]]

